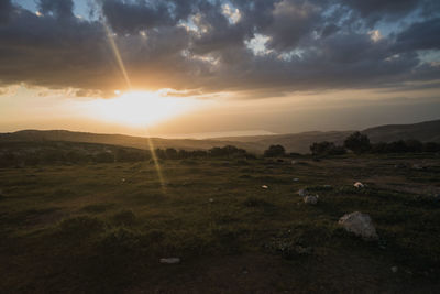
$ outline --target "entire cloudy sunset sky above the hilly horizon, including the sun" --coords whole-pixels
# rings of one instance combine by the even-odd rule
[[[439,36],[438,0],[0,0],[0,132],[439,119]]]

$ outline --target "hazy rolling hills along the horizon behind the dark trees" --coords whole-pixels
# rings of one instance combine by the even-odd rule
[[[271,144],[282,144],[288,152],[307,153],[309,152],[310,144],[314,142],[330,141],[341,144],[352,132],[353,131],[314,131],[293,134],[228,137],[205,140],[152,138],[151,142],[154,148],[175,148],[185,150],[207,150],[213,146],[231,144],[256,153],[262,153]],[[372,142],[391,142],[400,139],[417,139],[422,142],[440,142],[440,120],[413,124],[380,126],[365,129],[362,132],[366,133]],[[143,137],[72,132],[64,130],[24,130],[13,133],[0,133],[0,142],[10,141],[70,141],[150,149],[150,140]]]

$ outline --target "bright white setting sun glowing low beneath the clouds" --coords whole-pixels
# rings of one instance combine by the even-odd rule
[[[89,101],[88,108],[100,120],[130,127],[150,127],[196,110],[201,105],[202,101],[195,98],[130,91],[111,99]]]

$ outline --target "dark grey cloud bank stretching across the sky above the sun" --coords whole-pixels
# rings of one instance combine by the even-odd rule
[[[40,1],[42,15],[0,3],[3,86],[127,88],[103,23],[134,88],[268,97],[440,79],[438,65],[420,59],[440,50],[439,18],[426,12],[435,1],[99,0],[98,20],[75,17],[72,0]],[[392,33],[383,36],[377,22]],[[256,36],[266,43],[250,47]]]

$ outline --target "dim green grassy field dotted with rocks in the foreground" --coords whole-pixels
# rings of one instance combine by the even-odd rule
[[[290,161],[2,168],[0,292],[440,293],[438,156]]]

